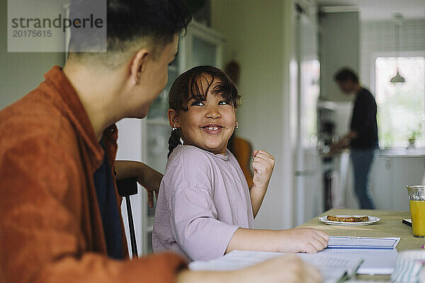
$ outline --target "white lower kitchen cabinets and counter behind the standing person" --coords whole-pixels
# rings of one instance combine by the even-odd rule
[[[348,166],[349,151],[332,156],[333,161],[324,164],[334,170],[332,202],[334,208],[357,208],[353,187],[353,171]],[[409,211],[406,185],[425,183],[425,148],[378,149],[370,172],[370,188],[377,209]]]

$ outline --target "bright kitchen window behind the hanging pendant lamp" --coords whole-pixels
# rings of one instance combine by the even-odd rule
[[[405,83],[390,83],[397,64]],[[375,78],[380,147],[424,147],[425,57],[378,57]]]

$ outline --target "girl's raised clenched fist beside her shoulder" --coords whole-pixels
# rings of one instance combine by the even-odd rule
[[[261,190],[267,190],[268,181],[274,168],[274,158],[263,150],[255,150],[252,153],[252,168],[254,177],[252,178],[253,187]]]

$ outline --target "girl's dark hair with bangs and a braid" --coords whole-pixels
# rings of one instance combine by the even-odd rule
[[[215,80],[217,82],[212,86]],[[202,81],[207,81],[205,89]],[[198,66],[185,71],[174,81],[169,91],[169,108],[177,112],[187,111],[188,101],[191,98],[201,101],[206,100],[211,86],[212,93],[222,96],[228,103],[232,103],[234,108],[239,106],[240,96],[236,85],[225,72],[212,66]],[[170,156],[176,146],[181,144],[180,138],[180,129],[171,131],[168,156]]]

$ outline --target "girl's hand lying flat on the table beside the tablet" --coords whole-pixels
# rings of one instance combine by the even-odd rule
[[[312,228],[294,228],[278,231],[283,253],[317,253],[327,247],[329,235]]]

